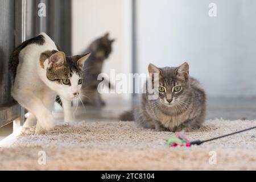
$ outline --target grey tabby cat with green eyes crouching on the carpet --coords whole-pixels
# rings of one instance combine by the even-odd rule
[[[148,72],[159,74],[159,87],[154,88],[158,98],[148,100],[148,93],[142,94],[141,104],[133,111],[135,122],[156,131],[198,129],[205,119],[206,96],[199,81],[189,76],[188,63],[164,68],[150,64]],[[129,113],[121,115],[121,120],[127,119],[132,119]]]

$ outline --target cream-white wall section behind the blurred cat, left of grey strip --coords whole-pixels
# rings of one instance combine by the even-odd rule
[[[115,38],[104,73],[131,72],[131,0],[73,0],[72,53],[79,54],[106,32]]]

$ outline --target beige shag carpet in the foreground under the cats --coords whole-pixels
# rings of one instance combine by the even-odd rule
[[[216,119],[207,121],[199,131],[188,133],[188,137],[191,140],[208,139],[254,125],[256,121]],[[11,148],[0,148],[0,169],[255,170],[255,131],[200,146],[174,148],[165,144],[174,133],[138,129],[134,122],[59,124],[46,134],[20,136]],[[45,165],[38,163],[39,151],[46,152]],[[215,154],[216,164],[210,158]]]

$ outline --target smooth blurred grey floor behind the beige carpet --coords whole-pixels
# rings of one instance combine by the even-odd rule
[[[119,114],[129,110],[133,103],[138,101],[123,100],[118,97],[105,97],[106,107],[97,109],[94,107],[78,107],[77,119],[118,119]],[[85,108],[85,109],[84,109]],[[58,114],[61,117],[61,114]],[[208,98],[207,119],[256,119],[256,98]]]

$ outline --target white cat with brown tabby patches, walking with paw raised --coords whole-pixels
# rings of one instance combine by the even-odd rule
[[[31,114],[23,128],[35,126],[35,133],[55,126],[53,104],[58,94],[64,109],[64,121],[75,120],[71,108],[79,97],[82,68],[90,53],[65,56],[45,33],[26,40],[15,49],[9,63],[11,95]]]

